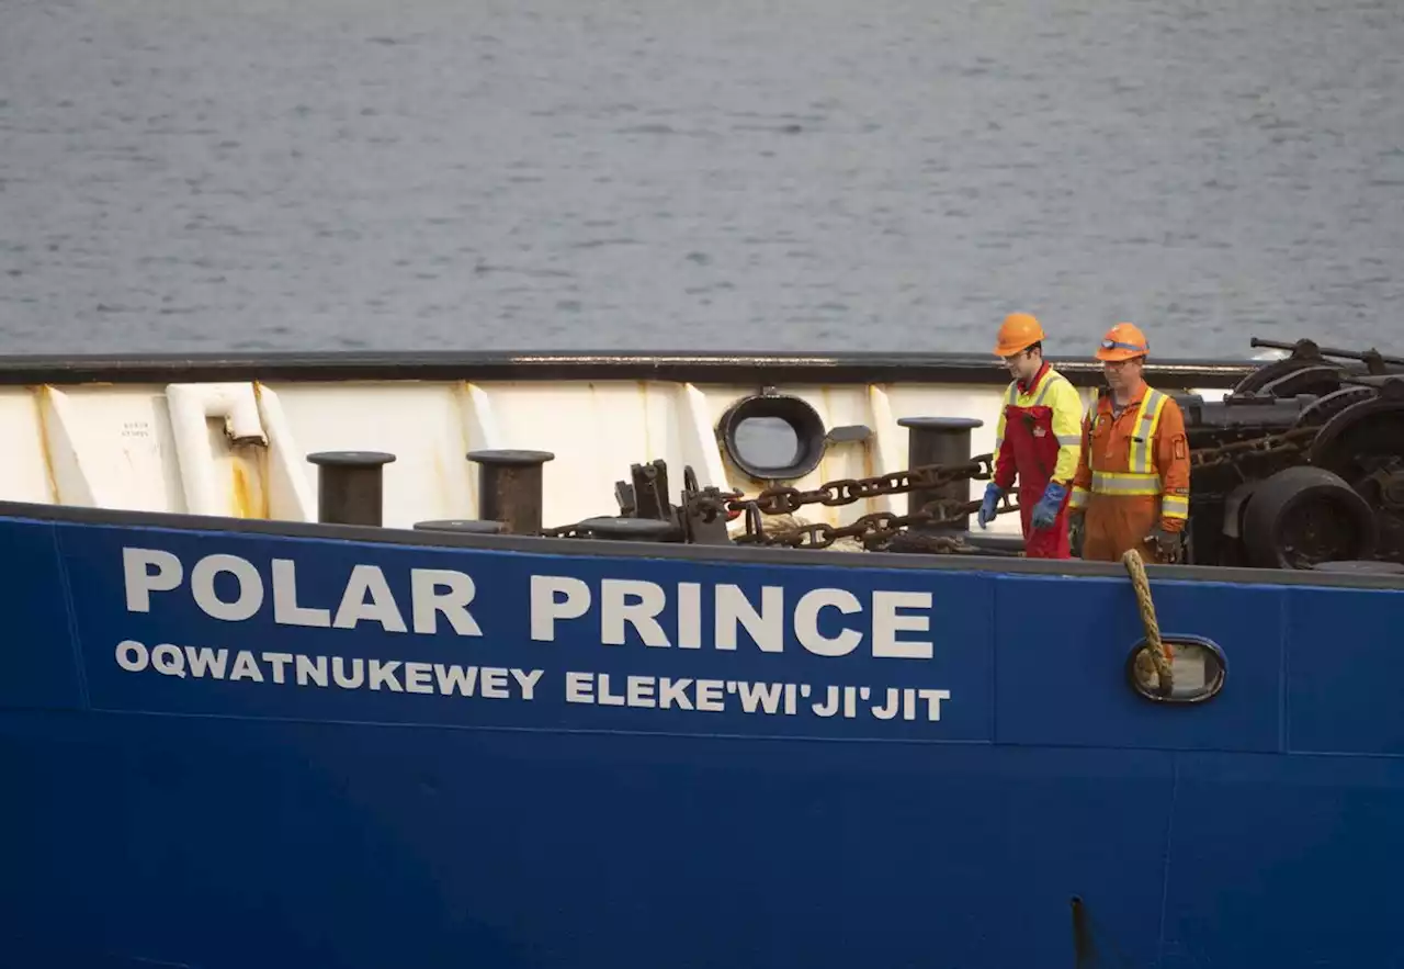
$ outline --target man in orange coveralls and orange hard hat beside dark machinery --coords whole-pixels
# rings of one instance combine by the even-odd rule
[[[1097,350],[1108,389],[1082,421],[1071,499],[1073,546],[1084,559],[1115,562],[1127,549],[1148,549],[1160,562],[1181,556],[1189,518],[1185,416],[1141,378],[1148,354],[1146,334],[1130,323],[1108,330]]]

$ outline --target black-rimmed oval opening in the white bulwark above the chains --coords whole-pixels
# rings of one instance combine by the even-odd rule
[[[824,421],[799,397],[743,397],[716,430],[731,462],[758,482],[803,477],[824,456]]]

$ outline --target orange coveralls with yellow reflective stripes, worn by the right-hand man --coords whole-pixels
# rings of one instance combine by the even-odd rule
[[[1082,558],[1116,562],[1127,549],[1147,551],[1158,524],[1181,532],[1189,518],[1189,442],[1185,414],[1153,388],[1112,413],[1104,392],[1082,420],[1082,455],[1068,507],[1082,508]],[[1151,546],[1153,560],[1158,555]]]

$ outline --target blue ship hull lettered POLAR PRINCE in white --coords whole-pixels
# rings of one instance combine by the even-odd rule
[[[1396,579],[0,514],[4,966],[1404,963]]]

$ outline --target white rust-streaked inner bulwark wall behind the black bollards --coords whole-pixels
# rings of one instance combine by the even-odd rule
[[[785,483],[810,489],[906,468],[903,417],[977,418],[972,454],[990,452],[1005,379],[991,368],[986,385],[778,386],[775,393],[807,403],[826,430],[870,431],[827,444],[809,473]],[[744,473],[717,434],[727,409],[757,392],[685,381],[3,386],[0,500],[316,521],[317,468],[306,455],[386,451],[396,461],[383,468],[383,524],[409,528],[476,517],[477,466],[466,454],[519,448],[555,454],[543,468],[543,524],[566,525],[616,514],[615,482],[629,479],[630,465],[658,458],[674,501],[687,465],[702,486],[760,492],[767,483]],[[1091,402],[1094,392],[1082,395]],[[776,441],[785,447],[788,438]],[[983,487],[973,482],[972,499]],[[882,510],[906,513],[906,496],[807,506],[799,517],[840,525]],[[1016,515],[1001,515],[991,531],[1016,534]]]

